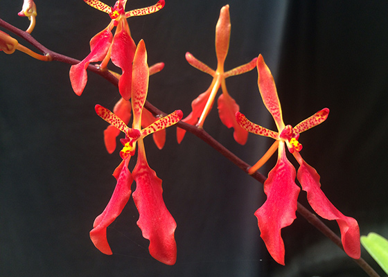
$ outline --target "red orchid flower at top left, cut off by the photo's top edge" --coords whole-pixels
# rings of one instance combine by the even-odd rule
[[[125,3],[127,0],[118,0],[113,8],[98,0],[84,1],[97,10],[109,14],[112,21],[107,28],[91,38],[90,54],[82,62],[71,66],[71,87],[80,96],[87,83],[87,66],[91,62],[102,61],[99,67],[100,69],[105,69],[109,60],[112,60],[113,64],[120,67],[121,71],[123,71],[118,81],[118,91],[120,91],[121,96],[125,100],[128,100],[131,96],[132,60],[134,51],[136,50],[136,44],[131,37],[127,18],[157,12],[164,7],[164,0],[159,0],[154,6],[130,10],[129,12],[125,12]],[[112,29],[115,26],[116,33],[113,36]]]

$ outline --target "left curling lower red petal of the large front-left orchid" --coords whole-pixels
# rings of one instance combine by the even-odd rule
[[[94,220],[93,229],[90,231],[90,239],[94,246],[107,255],[112,255],[112,250],[107,241],[107,226],[112,224],[116,217],[123,211],[131,195],[132,175],[128,170],[129,159],[121,161],[120,165],[114,170],[114,177],[117,180],[116,188],[107,207]]]

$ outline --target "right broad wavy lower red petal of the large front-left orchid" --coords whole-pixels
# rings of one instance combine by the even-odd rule
[[[136,181],[133,193],[134,203],[139,211],[137,225],[143,237],[150,240],[150,255],[166,265],[177,260],[177,245],[174,233],[175,220],[166,208],[162,197],[161,179],[145,160],[142,141],[139,141],[139,156],[132,176]]]

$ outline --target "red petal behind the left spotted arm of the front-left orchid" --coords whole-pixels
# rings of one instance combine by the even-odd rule
[[[114,105],[113,112],[123,120],[123,123],[125,125],[128,125],[131,118],[131,102],[124,100],[124,98],[121,98],[118,100],[116,105]],[[120,134],[121,129],[117,129],[113,125],[109,125],[107,129],[104,131],[104,142],[105,142],[105,148],[107,148],[107,152],[109,154],[112,154],[114,150],[116,149],[116,137],[118,134]]]

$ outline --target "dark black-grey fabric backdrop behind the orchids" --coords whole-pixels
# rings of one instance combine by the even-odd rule
[[[127,10],[155,2],[130,0]],[[81,0],[35,3],[33,36],[80,60],[89,53],[89,39],[109,23]],[[227,3],[232,27],[225,68],[261,53],[274,74],[286,124],[330,108],[326,123],[301,135],[301,154],[321,175],[328,198],[358,220],[363,235],[388,237],[387,1],[166,0],[157,14],[129,19],[135,42],[145,40],[149,64],[166,63],[150,78],[154,105],[188,115],[191,101],[209,87],[211,77],[188,65],[184,54],[215,68],[215,24]],[[2,19],[27,28],[28,20],[17,17],[21,1],[0,6]],[[265,201],[263,186],[191,134],[178,145],[175,127],[167,130],[163,150],[151,138],[145,146],[177,222],[176,265],[150,257],[132,199],[108,229],[114,254],[105,256],[89,231],[112,194],[112,172],[121,159],[105,151],[107,123],[94,105],[112,109],[117,89],[89,73],[78,97],[68,64],[23,53],[0,53],[0,64],[1,276],[365,276],[300,215],[282,232],[286,265],[277,265],[254,217]],[[258,93],[256,70],[229,78],[227,86],[249,119],[275,128]],[[215,107],[204,128],[251,164],[272,143],[250,134],[245,146],[238,145]],[[267,175],[274,163],[260,171]],[[308,206],[306,193],[299,200]],[[327,223],[338,233],[335,222]]]

